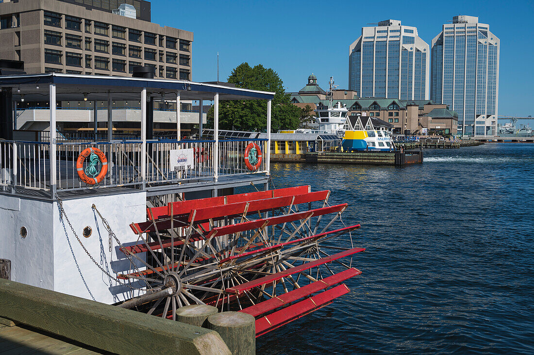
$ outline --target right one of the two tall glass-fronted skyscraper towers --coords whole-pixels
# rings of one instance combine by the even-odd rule
[[[458,132],[497,132],[499,38],[478,17],[459,15],[432,41],[430,99],[458,113]]]

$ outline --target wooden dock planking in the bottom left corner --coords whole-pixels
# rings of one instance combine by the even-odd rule
[[[98,349],[25,325],[0,324],[0,354],[105,354]]]

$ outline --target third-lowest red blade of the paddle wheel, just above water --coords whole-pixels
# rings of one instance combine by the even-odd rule
[[[335,261],[337,259],[340,259],[342,257],[350,256],[350,255],[359,253],[360,251],[364,251],[364,250],[365,250],[365,248],[353,248],[353,249],[349,249],[349,250],[344,250],[344,251],[341,251],[341,253],[337,253],[337,254],[334,254],[334,255],[331,255],[331,256],[327,256],[325,258],[321,258],[321,259],[318,259],[316,261],[312,261],[312,262],[305,263],[305,264],[302,264],[302,265],[290,267],[289,269],[284,270],[284,271],[280,271],[280,272],[277,272],[277,273],[274,273],[274,274],[271,274],[271,275],[267,275],[267,276],[262,277],[262,278],[258,278],[258,279],[252,280],[252,281],[241,283],[241,285],[229,287],[229,288],[226,289],[226,292],[239,295],[239,294],[243,293],[244,291],[247,291],[247,290],[252,289],[254,287],[259,287],[259,286],[262,286],[262,285],[267,285],[269,283],[277,282],[281,278],[288,277],[289,275],[293,275],[293,274],[295,274],[297,272],[309,270],[312,267],[317,267],[317,266],[320,266],[320,265],[331,263],[331,262],[333,262],[333,261]]]

